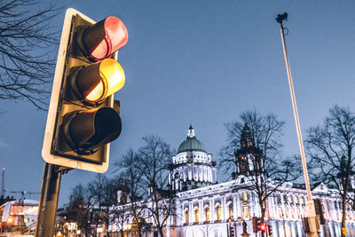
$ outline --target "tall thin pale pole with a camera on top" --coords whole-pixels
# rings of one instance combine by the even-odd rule
[[[312,236],[313,237],[313,236],[318,236],[317,227],[316,227],[316,220],[315,220],[316,215],[315,215],[315,209],[314,209],[314,202],[313,202],[313,199],[312,199],[310,180],[308,178],[307,163],[305,161],[304,142],[302,140],[301,126],[300,126],[300,122],[299,122],[299,119],[298,119],[295,91],[294,91],[294,86],[293,86],[293,83],[292,83],[291,70],[289,68],[288,51],[286,49],[284,28],[283,28],[283,25],[282,25],[282,20],[287,20],[287,18],[288,18],[288,13],[285,12],[282,15],[278,15],[278,18],[276,20],[280,23],[282,47],[283,47],[283,53],[285,55],[286,69],[288,71],[289,91],[291,93],[292,107],[294,109],[295,122],[296,122],[298,145],[299,145],[299,149],[300,149],[300,153],[301,153],[302,167],[304,169],[304,182],[305,182],[305,189],[307,191],[307,200],[308,200],[308,201],[306,201],[306,211],[305,212],[306,212],[306,215],[308,217],[308,221],[310,223],[310,231],[311,231],[311,233],[308,234],[307,236]]]

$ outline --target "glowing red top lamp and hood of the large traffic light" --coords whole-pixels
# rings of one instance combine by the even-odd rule
[[[116,17],[107,17],[91,27],[82,28],[77,35],[80,50],[92,61],[105,59],[127,41],[127,28]]]

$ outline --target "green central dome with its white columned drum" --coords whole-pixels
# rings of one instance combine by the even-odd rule
[[[217,181],[216,162],[212,162],[212,154],[207,154],[203,143],[196,138],[193,126],[172,157],[169,180],[176,192],[210,186]]]

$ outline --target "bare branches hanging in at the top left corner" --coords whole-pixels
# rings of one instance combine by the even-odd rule
[[[45,109],[55,67],[51,50],[58,43],[49,23],[60,8],[38,6],[33,0],[0,2],[0,99],[27,99]]]

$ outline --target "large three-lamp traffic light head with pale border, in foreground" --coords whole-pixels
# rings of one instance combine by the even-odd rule
[[[120,103],[114,92],[125,75],[116,61],[128,40],[115,17],[98,23],[75,9],[64,20],[42,155],[45,162],[105,172],[109,143],[120,136]]]

